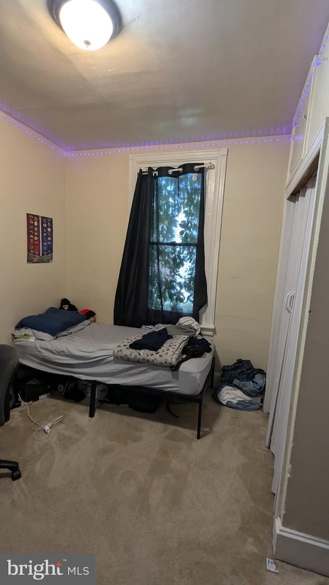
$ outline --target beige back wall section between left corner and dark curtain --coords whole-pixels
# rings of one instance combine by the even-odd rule
[[[128,154],[68,159],[68,298],[113,323],[128,225]]]

